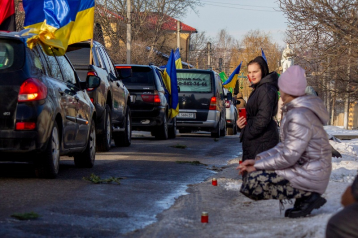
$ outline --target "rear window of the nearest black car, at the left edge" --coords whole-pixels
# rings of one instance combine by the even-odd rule
[[[24,55],[25,48],[21,41],[0,39],[0,73],[20,69]]]

